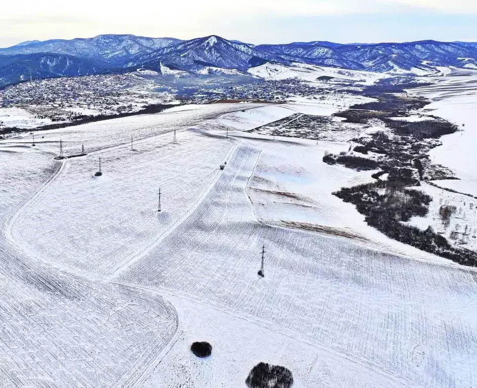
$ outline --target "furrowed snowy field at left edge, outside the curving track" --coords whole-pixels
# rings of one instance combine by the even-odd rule
[[[0,152],[0,161],[0,385],[140,383],[176,335],[174,307],[160,296],[77,278],[26,255],[8,230],[24,201],[48,189],[58,164],[48,153],[21,147]]]

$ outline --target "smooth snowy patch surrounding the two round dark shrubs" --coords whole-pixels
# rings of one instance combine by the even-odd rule
[[[347,360],[320,346],[270,330],[259,322],[188,299],[170,297],[170,300],[181,306],[183,331],[177,345],[147,380],[146,387],[245,388],[248,372],[264,360],[274,365],[293,365],[293,388],[404,386],[378,370],[357,364],[356,360]],[[197,338],[213,344],[210,358],[200,360],[190,352],[189,346]]]

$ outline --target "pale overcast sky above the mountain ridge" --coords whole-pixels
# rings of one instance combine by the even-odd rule
[[[4,3],[4,2],[2,2]],[[0,6],[0,46],[106,33],[250,43],[477,41],[471,0],[16,0]]]

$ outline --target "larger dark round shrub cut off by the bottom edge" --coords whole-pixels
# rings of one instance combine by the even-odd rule
[[[290,388],[293,375],[283,366],[261,362],[253,367],[245,383],[248,388]]]

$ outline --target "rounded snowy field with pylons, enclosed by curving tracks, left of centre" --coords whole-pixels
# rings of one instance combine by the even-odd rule
[[[120,146],[68,159],[49,189],[16,215],[14,238],[45,261],[112,273],[187,213],[234,144],[189,131],[178,137],[177,143],[156,136],[133,150]],[[94,177],[99,157],[103,175]]]

